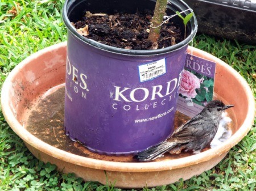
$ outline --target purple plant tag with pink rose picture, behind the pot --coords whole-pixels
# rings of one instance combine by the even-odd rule
[[[213,100],[215,70],[216,62],[187,53],[180,82],[177,111],[194,117]]]

